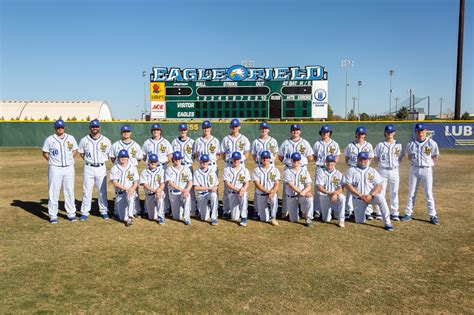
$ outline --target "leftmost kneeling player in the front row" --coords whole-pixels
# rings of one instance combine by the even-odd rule
[[[117,164],[110,170],[110,181],[115,187],[115,212],[125,226],[133,224],[135,198],[137,198],[138,171],[129,160],[129,153],[122,149],[116,155]]]

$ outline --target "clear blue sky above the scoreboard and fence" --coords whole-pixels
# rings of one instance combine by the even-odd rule
[[[466,0],[461,112],[474,113],[473,13]],[[458,0],[0,0],[0,98],[102,100],[116,119],[145,106],[152,67],[321,65],[329,104],[383,114],[430,96],[454,111]],[[148,92],[147,92],[148,93]],[[146,100],[148,103],[149,100]],[[417,107],[427,112],[427,100]]]

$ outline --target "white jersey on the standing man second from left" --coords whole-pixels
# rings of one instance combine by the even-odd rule
[[[107,162],[112,143],[109,138],[100,135],[94,139],[87,135],[79,142],[78,152],[84,154],[84,161],[89,164],[101,164]]]

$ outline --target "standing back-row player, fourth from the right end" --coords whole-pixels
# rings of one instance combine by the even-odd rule
[[[337,163],[339,161],[339,155],[341,154],[341,150],[339,149],[339,144],[336,141],[331,139],[331,136],[332,136],[331,126],[329,125],[321,126],[321,129],[319,130],[319,135],[321,136],[321,139],[316,141],[313,145],[313,155],[314,155],[314,161],[316,164],[315,178],[318,174],[318,169],[326,167],[327,156],[329,155],[335,156],[336,163]],[[320,203],[319,196],[320,194],[318,193],[318,186],[314,185],[313,210],[314,210],[314,216],[316,218],[321,216],[320,214],[321,205],[319,204]]]

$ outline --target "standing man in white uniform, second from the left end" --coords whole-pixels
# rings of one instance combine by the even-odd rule
[[[103,219],[108,220],[107,201],[107,160],[112,143],[100,133],[100,122],[97,119],[89,123],[90,134],[79,142],[78,152],[84,160],[84,179],[82,184],[81,221],[89,218],[91,210],[92,189],[98,190],[99,211]]]

